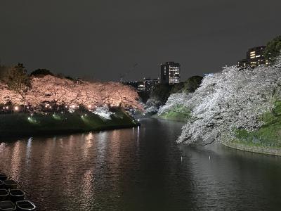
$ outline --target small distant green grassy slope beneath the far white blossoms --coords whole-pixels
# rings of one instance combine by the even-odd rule
[[[154,115],[153,117],[164,119],[186,122],[190,118],[190,110],[185,106],[176,106],[162,115]]]

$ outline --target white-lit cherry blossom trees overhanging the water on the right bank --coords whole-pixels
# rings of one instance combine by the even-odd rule
[[[176,99],[192,110],[177,142],[206,145],[233,139],[237,129],[258,129],[263,124],[261,115],[273,110],[275,101],[280,100],[280,87],[280,58],[271,67],[241,70],[232,66],[207,75],[190,99],[180,95]]]

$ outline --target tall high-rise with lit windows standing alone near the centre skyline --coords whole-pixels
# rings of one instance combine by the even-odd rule
[[[161,84],[178,84],[180,82],[181,65],[174,62],[161,64]]]

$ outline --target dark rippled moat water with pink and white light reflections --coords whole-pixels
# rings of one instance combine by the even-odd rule
[[[0,143],[40,210],[274,210],[280,158],[175,143],[180,122]],[[254,202],[254,203],[253,203]]]

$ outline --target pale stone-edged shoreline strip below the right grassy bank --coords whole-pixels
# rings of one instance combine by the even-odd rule
[[[239,151],[246,151],[250,153],[259,153],[263,155],[275,155],[281,156],[281,149],[278,148],[263,148],[259,146],[248,146],[242,143],[233,143],[233,142],[223,142],[221,143],[223,146],[228,148],[233,148]]]

